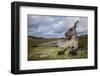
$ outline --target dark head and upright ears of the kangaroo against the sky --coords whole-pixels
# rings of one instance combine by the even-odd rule
[[[68,32],[65,33],[65,36],[67,39],[71,39],[72,36],[76,36],[76,28],[77,28],[77,24],[79,23],[79,20],[75,21],[75,23],[73,24],[73,27],[71,27]]]

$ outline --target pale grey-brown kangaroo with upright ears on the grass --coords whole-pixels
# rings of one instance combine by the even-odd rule
[[[62,47],[63,49],[58,52],[58,55],[62,55],[65,53],[66,49],[69,48],[70,54],[76,55],[77,49],[78,49],[78,37],[77,37],[77,24],[79,23],[79,20],[76,20],[72,27],[69,28],[69,30],[65,33],[65,39],[59,39],[57,41],[51,41],[47,43],[42,43],[40,46],[57,46]]]

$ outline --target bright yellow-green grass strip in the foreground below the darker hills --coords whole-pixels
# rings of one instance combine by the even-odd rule
[[[66,49],[64,55],[58,55],[58,51],[62,50],[59,47],[34,47],[31,48],[28,55],[28,60],[55,60],[55,59],[79,59],[87,58],[87,52],[78,50],[76,56],[69,54],[70,50]]]

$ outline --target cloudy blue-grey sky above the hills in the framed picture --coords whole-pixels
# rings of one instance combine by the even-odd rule
[[[51,16],[51,15],[27,15],[28,36],[43,38],[62,38],[73,23],[78,19],[77,34],[86,35],[88,31],[88,18],[76,16]]]

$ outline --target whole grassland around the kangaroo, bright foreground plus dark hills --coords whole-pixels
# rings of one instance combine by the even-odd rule
[[[69,49],[64,55],[58,55],[63,48],[50,46],[37,46],[41,43],[56,41],[58,38],[38,38],[28,36],[28,60],[55,60],[55,59],[84,59],[87,58],[87,36],[79,37],[79,49],[76,56],[72,56]],[[85,48],[85,49],[84,49]]]

